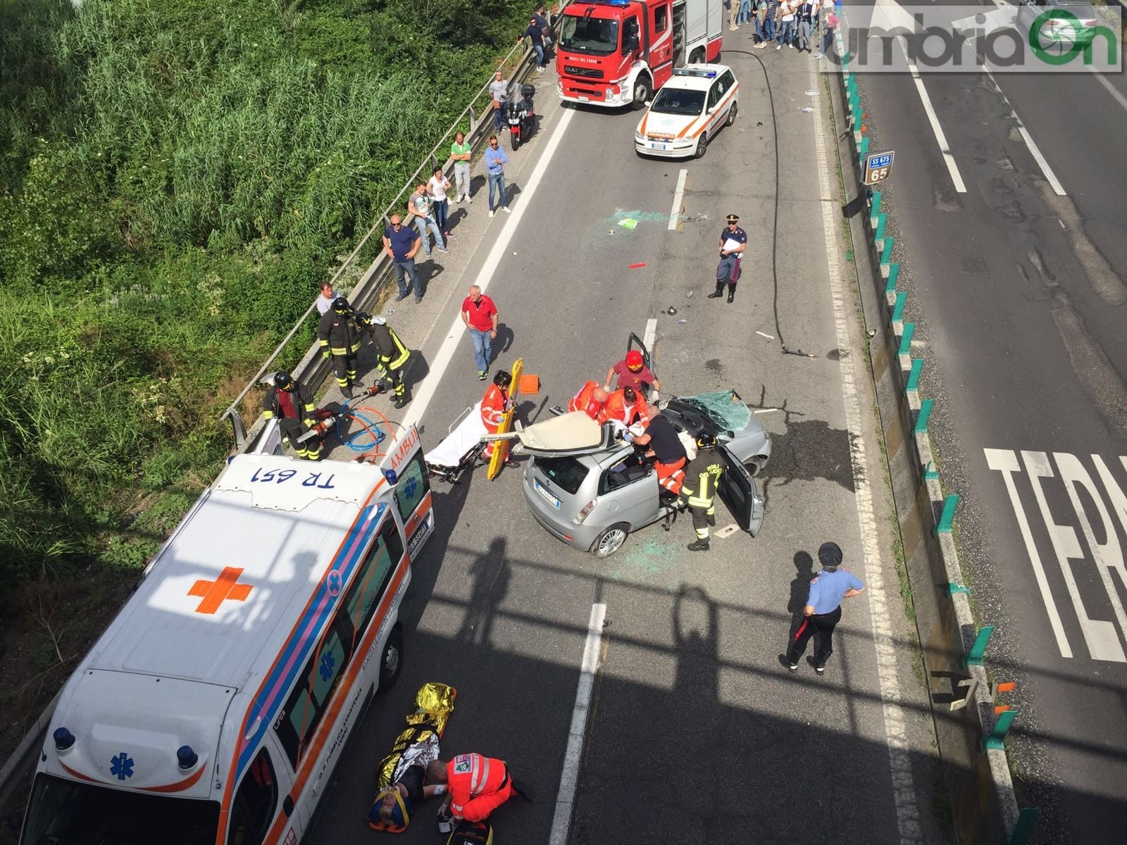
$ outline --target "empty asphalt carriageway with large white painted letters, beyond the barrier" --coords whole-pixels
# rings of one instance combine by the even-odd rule
[[[860,82],[873,149],[896,150],[912,352],[977,620],[996,626],[988,668],[1018,683],[1023,802],[1038,842],[1093,840],[1127,821],[1127,86],[922,81],[965,193],[912,79]]]

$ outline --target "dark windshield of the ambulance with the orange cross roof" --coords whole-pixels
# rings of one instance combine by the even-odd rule
[[[20,845],[215,845],[219,802],[171,798],[48,774],[35,779]]]

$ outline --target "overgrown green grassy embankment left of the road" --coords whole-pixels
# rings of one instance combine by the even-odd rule
[[[0,759],[531,6],[0,7]]]

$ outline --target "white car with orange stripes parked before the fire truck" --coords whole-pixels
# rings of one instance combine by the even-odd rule
[[[635,131],[639,155],[701,158],[708,142],[736,122],[739,82],[726,64],[675,68]]]

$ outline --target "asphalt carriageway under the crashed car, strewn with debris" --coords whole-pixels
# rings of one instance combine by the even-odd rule
[[[432,443],[483,392],[468,338],[444,371],[428,363],[441,361],[447,327],[480,274],[488,274],[504,327],[498,365],[520,356],[543,385],[521,409],[526,421],[566,402],[586,379],[601,379],[629,332],[642,335],[656,320],[664,393],[734,388],[764,411],[774,455],[761,477],[762,533],[717,540],[712,552],[694,555],[684,548],[691,528],[680,521],[668,534],[651,526],[631,535],[600,561],[533,521],[520,471],[494,482],[481,471],[453,487],[436,482],[438,528],[415,566],[406,667],[345,753],[309,842],[371,835],[364,815],[375,763],[426,681],[459,690],[444,753],[503,757],[535,792],[533,803],[513,801],[495,813],[497,842],[547,843],[565,830],[559,840],[571,843],[941,840],[931,813],[926,700],[886,551],[890,512],[877,481],[871,393],[863,381],[853,406],[843,393],[859,329],[851,302],[835,312],[823,207],[837,201],[819,187],[833,166],[818,160],[816,118],[800,110],[825,99],[806,94],[820,79],[807,57],[764,56],[769,92],[764,70],[736,46],[731,38],[725,55],[743,86],[739,119],[706,159],[687,163],[639,160],[637,115],[564,110],[545,74],[541,126],[511,157],[513,214],[488,221],[480,190],[469,214],[458,210],[452,255],[427,266],[423,305],[408,301],[385,313],[418,350],[412,393],[424,395],[421,377],[437,380],[421,416]],[[549,153],[530,199],[534,164]],[[671,231],[682,168],[684,213]],[[728,305],[704,294],[722,217],[733,211],[753,258]],[[638,226],[619,225],[623,217]],[[676,315],[663,313],[671,304]],[[811,357],[782,355],[780,341]],[[850,426],[854,406],[860,421]],[[859,443],[868,444],[868,459],[855,473]],[[862,487],[876,498],[879,524],[859,519]],[[718,506],[719,525],[728,521]],[[819,678],[805,662],[788,673],[778,656],[825,540],[842,545],[862,579],[885,587],[850,601]],[[595,603],[606,606],[601,666],[578,730],[573,811],[564,806],[570,825],[553,829]],[[882,669],[875,622],[895,650]],[[894,753],[889,713],[898,720]],[[895,784],[893,765],[900,766]],[[399,840],[433,842],[431,812],[424,808]]]

